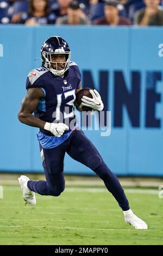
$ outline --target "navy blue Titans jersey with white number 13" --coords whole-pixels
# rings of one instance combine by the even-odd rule
[[[41,88],[44,97],[40,99],[34,115],[48,123],[65,123],[73,129],[76,117],[74,115],[74,101],[76,99],[76,89],[79,87],[81,74],[76,63],[70,62],[65,77],[54,76],[52,72],[41,66],[29,72],[26,89]],[[71,124],[71,125],[70,125]],[[70,132],[65,131],[66,132]],[[46,135],[52,133],[40,129]]]

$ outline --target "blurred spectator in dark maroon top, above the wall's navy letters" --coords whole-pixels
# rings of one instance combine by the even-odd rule
[[[93,22],[95,25],[131,25],[131,21],[125,17],[119,15],[120,9],[118,9],[118,1],[107,1],[104,5],[105,17]]]

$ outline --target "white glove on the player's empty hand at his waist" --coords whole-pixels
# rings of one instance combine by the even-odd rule
[[[44,129],[51,132],[55,137],[61,137],[66,129],[69,129],[66,124],[63,123],[47,123],[44,126]]]

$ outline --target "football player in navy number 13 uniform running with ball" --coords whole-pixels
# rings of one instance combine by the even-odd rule
[[[28,74],[27,95],[22,101],[18,119],[26,125],[40,128],[37,139],[46,181],[33,181],[21,175],[18,181],[24,200],[29,205],[35,205],[35,192],[58,197],[64,191],[64,157],[67,153],[72,159],[91,168],[104,181],[120,205],[127,223],[135,229],[147,229],[147,224],[131,211],[116,175],[106,166],[84,132],[77,129],[74,101],[76,93],[82,88],[81,75],[77,64],[70,61],[71,51],[67,42],[60,36],[48,38],[41,47],[41,57],[40,68]],[[90,93],[93,99],[83,96],[83,106],[102,111],[101,96],[96,90],[90,90]]]

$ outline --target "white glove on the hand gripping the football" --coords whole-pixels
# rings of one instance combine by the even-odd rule
[[[92,94],[93,99],[87,96],[83,96],[81,105],[91,107],[93,110],[102,111],[104,104],[101,100],[101,96],[97,90],[90,90],[90,93]]]

